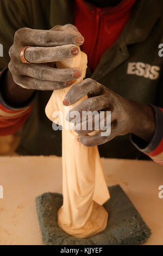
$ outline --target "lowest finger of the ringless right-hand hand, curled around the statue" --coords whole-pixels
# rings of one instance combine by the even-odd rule
[[[111,139],[115,138],[118,135],[116,129],[113,129],[111,131],[110,136],[102,136],[101,132],[102,131],[99,131],[98,133],[96,133],[96,135],[93,136],[78,136],[78,141],[86,147],[94,147],[109,142],[111,141]]]

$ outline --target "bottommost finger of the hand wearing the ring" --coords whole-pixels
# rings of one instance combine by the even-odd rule
[[[21,76],[14,77],[14,82],[19,86],[26,89],[34,89],[34,90],[58,90],[62,88],[66,88],[70,86],[73,81],[68,82],[52,82],[52,81],[43,81],[33,77]]]

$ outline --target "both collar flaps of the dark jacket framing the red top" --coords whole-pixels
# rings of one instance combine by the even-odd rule
[[[161,15],[162,0],[136,0],[122,34],[103,54],[91,76],[99,80],[129,58],[127,45],[145,41]],[[154,8],[153,8],[154,5]],[[50,27],[73,23],[74,0],[51,0]]]

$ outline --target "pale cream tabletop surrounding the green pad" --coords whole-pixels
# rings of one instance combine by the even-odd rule
[[[146,245],[163,245],[163,166],[152,161],[102,159],[108,185],[120,184],[152,229]],[[61,192],[61,157],[0,157],[0,245],[42,245],[35,197]]]

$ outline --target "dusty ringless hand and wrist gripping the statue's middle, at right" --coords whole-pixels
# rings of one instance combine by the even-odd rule
[[[116,136],[126,135],[127,133],[134,133],[147,142],[152,139],[155,130],[155,121],[151,107],[121,97],[90,78],[74,85],[66,94],[63,103],[65,106],[73,105],[85,95],[88,96],[88,99],[84,100],[68,113],[69,120],[73,122],[70,114],[74,111],[78,111],[80,117],[82,117],[83,111],[104,111],[106,124],[106,111],[111,111],[111,134],[109,136],[101,136],[101,131],[98,131],[96,135],[86,136],[88,133],[95,131],[95,119],[93,119],[92,130],[82,130],[81,123],[87,122],[87,119],[81,119],[76,124],[76,129],[77,127],[79,129],[75,131],[79,134],[78,141],[82,144],[92,147],[106,143]],[[88,125],[86,127],[88,128]]]

